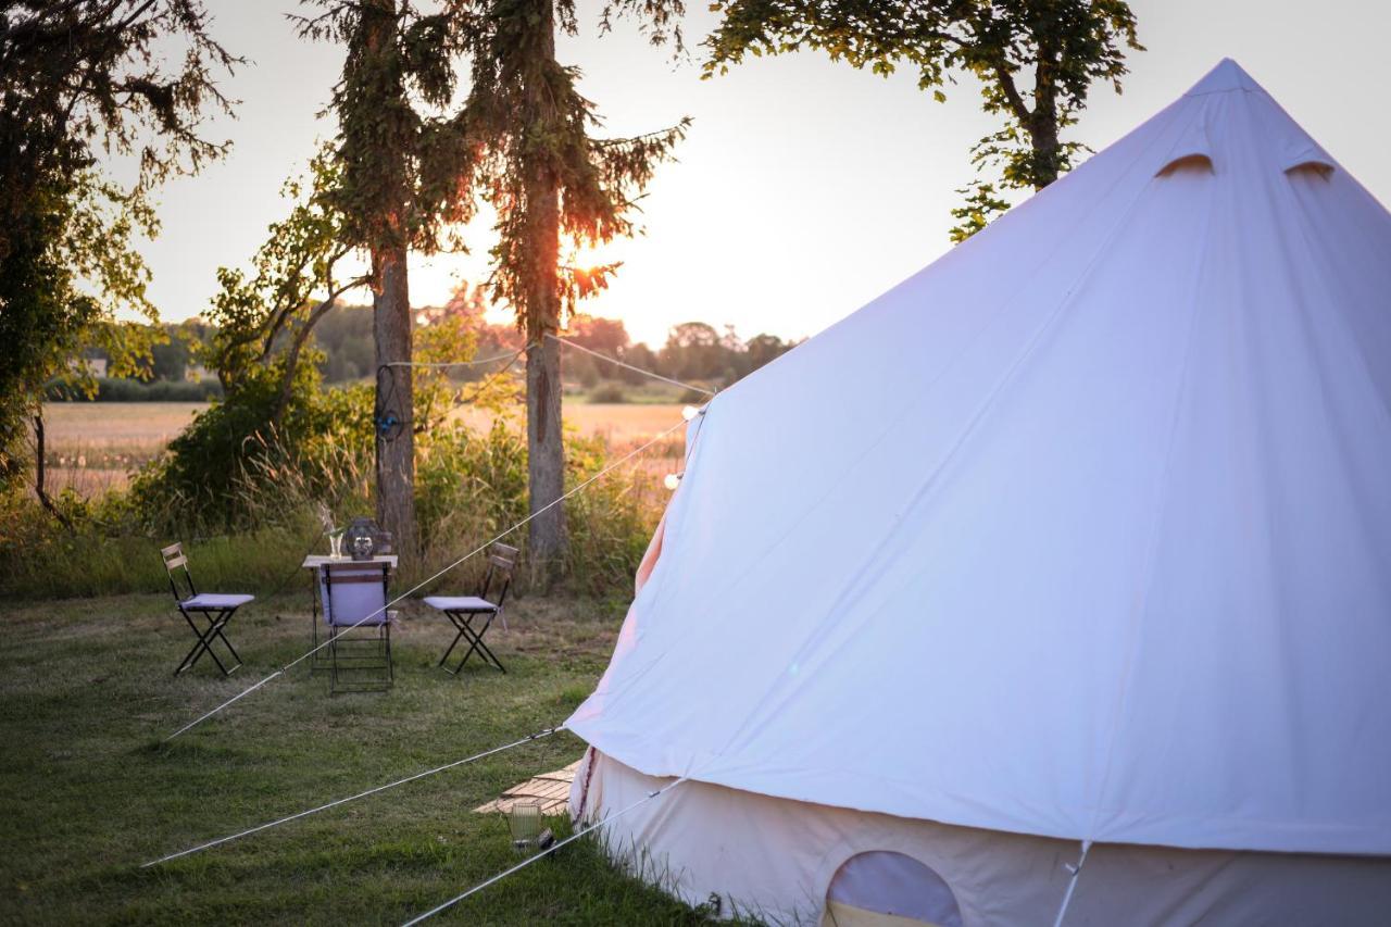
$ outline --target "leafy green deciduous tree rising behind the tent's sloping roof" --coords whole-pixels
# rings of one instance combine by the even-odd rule
[[[1061,141],[1096,81],[1121,90],[1125,52],[1143,50],[1125,0],[715,0],[719,28],[707,39],[705,77],[746,54],[808,47],[833,61],[889,75],[918,70],[918,86],[946,100],[957,75],[981,82],[986,113],[1004,125],[975,143],[976,170],[997,168],[1007,189],[1042,189],[1070,170],[1084,146]],[[953,241],[1000,210],[993,184],[978,181]]]

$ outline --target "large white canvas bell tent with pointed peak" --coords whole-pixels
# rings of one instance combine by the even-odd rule
[[[1391,214],[1235,63],[687,437],[568,722],[669,889],[1391,910]]]

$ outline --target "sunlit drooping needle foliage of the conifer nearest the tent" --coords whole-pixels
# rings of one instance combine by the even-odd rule
[[[562,264],[556,232],[573,246],[636,234],[637,199],[657,166],[672,159],[690,120],[633,138],[594,138],[601,122],[594,103],[574,86],[579,71],[555,60],[555,28],[566,35],[579,31],[574,4],[494,0],[479,6],[485,13],[473,38],[466,111],[484,146],[477,178],[498,214],[490,288],[494,299],[516,309],[517,327],[529,340],[537,340],[556,333],[576,303],[608,287],[618,270],[618,264]],[[602,22],[638,13],[654,40],[661,40],[673,10],[679,15],[680,4],[611,3]],[[554,216],[544,210],[541,191],[558,199]]]

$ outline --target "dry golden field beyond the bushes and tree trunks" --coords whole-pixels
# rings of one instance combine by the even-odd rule
[[[164,450],[206,402],[50,402],[49,489],[71,486],[85,496],[121,487],[129,472]],[[473,427],[491,416],[465,408],[455,413]],[[565,422],[581,434],[602,434],[615,447],[637,444],[682,420],[680,405],[565,405]],[[680,434],[673,438],[680,440]]]

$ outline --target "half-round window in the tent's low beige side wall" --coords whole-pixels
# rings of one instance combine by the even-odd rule
[[[946,881],[903,853],[872,850],[846,860],[826,889],[821,927],[961,927]]]

